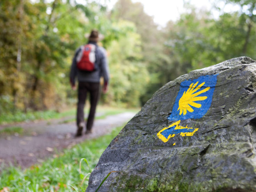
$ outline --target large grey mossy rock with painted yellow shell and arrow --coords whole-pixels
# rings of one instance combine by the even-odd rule
[[[239,57],[165,84],[112,140],[86,191],[111,171],[99,191],[256,191],[255,62]],[[192,89],[201,94],[189,98]]]

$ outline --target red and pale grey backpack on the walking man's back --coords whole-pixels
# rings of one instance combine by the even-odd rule
[[[94,71],[95,68],[95,51],[97,46],[94,44],[86,44],[81,46],[81,50],[76,57],[76,66],[83,71]]]

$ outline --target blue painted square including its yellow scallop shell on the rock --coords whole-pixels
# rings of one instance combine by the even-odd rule
[[[218,75],[218,74],[217,74]],[[169,120],[199,119],[209,110],[217,75],[200,76],[180,84]]]

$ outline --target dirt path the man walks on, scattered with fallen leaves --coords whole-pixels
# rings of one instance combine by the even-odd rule
[[[46,157],[56,156],[64,148],[71,148],[86,139],[104,135],[117,126],[127,123],[135,113],[126,112],[107,116],[105,119],[95,120],[93,133],[75,138],[76,125],[74,122],[63,123],[65,119],[52,121],[38,121],[35,123],[20,123],[22,135],[0,135],[0,164],[12,163],[26,168],[35,163],[43,162]],[[5,126],[6,127],[6,126]],[[4,126],[0,127],[0,130]],[[1,169],[1,168],[0,168]],[[1,171],[1,170],[0,170]]]

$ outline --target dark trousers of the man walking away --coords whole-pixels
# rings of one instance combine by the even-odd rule
[[[77,113],[76,113],[77,126],[79,125],[79,123],[84,122],[84,105],[85,105],[87,92],[89,92],[91,108],[90,108],[90,113],[86,123],[86,129],[87,130],[92,129],[96,106],[99,98],[99,88],[100,88],[100,83],[79,82],[78,103],[77,103]]]

